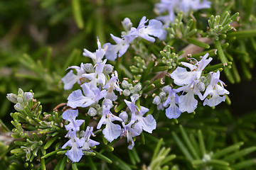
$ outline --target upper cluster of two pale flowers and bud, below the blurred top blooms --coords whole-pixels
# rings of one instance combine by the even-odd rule
[[[149,25],[145,26],[145,23],[149,21]],[[154,42],[155,38],[149,36],[153,35],[154,37],[165,39],[166,30],[163,28],[163,24],[156,19],[146,20],[146,16],[143,16],[139,22],[137,28],[132,27],[132,22],[129,18],[124,18],[122,25],[126,32],[122,32],[122,38],[118,38],[112,34],[111,38],[116,42],[116,45],[112,45],[110,42],[106,43],[104,47],[107,47],[106,58],[107,60],[116,60],[117,56],[121,57],[127,51],[130,43],[135,38],[143,38],[150,42]],[[117,55],[118,54],[118,55]]]

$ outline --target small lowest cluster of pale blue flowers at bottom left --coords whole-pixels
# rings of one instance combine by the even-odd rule
[[[90,147],[94,147],[100,143],[90,140],[91,135],[95,136],[92,132],[93,127],[87,126],[85,132],[83,130],[80,132],[80,125],[82,125],[85,120],[75,120],[75,118],[78,117],[78,110],[65,111],[62,116],[64,120],[68,120],[69,122],[68,125],[65,125],[66,130],[68,130],[65,137],[70,138],[70,140],[63,145],[62,149],[71,147],[65,154],[72,162],[79,162],[83,155],[82,151],[88,151]]]

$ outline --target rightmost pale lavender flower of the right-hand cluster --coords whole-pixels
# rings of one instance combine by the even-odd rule
[[[206,88],[206,92],[203,94],[203,98],[210,95],[210,99],[206,98],[203,102],[203,106],[217,106],[222,101],[225,101],[225,96],[220,97],[220,95],[229,94],[229,91],[224,89],[224,83],[220,80],[220,71],[210,72],[212,74],[210,84]],[[218,84],[219,83],[219,84]]]

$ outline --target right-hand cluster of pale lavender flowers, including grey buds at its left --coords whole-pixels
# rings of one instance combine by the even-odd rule
[[[164,107],[169,106],[166,108],[167,118],[178,118],[183,112],[195,111],[198,101],[194,95],[197,95],[201,101],[204,100],[203,106],[213,107],[225,101],[226,97],[223,95],[229,92],[224,89],[223,81],[220,81],[220,72],[210,72],[207,77],[203,76],[203,70],[211,60],[213,58],[208,58],[207,53],[201,61],[196,61],[196,64],[181,62],[183,66],[190,69],[189,72],[186,68],[177,67],[171,73],[174,84],[179,86],[178,89],[165,86],[159,96],[155,96],[153,100],[159,110],[164,110]],[[182,94],[178,96],[176,93],[181,91]],[[205,91],[204,94],[201,94],[203,91]]]

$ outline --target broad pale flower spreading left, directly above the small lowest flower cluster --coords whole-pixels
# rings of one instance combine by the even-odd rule
[[[70,96],[68,96],[68,104],[71,108],[91,106],[93,103],[97,103],[101,98],[107,95],[106,90],[100,91],[100,89],[91,89],[86,83],[81,85],[82,91],[85,94],[82,95],[80,89],[73,91]]]

